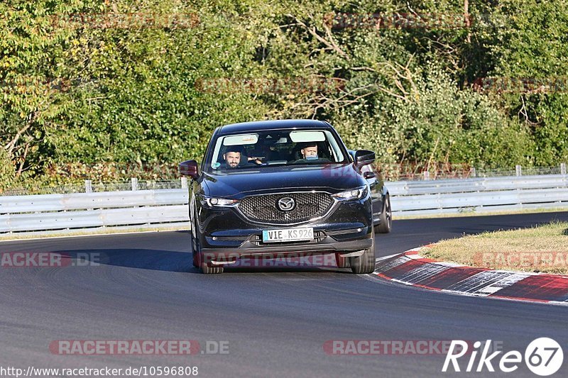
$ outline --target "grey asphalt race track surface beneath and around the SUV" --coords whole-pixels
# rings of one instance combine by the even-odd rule
[[[568,213],[395,221],[393,233],[377,235],[376,255],[553,218],[568,220]],[[568,359],[566,306],[442,294],[337,268],[204,275],[191,267],[182,232],[0,243],[0,252],[42,251],[99,253],[103,264],[0,267],[1,367],[197,366],[202,377],[537,377],[523,362],[509,374],[465,373],[469,357],[462,357],[462,372],[442,373],[444,355],[329,355],[327,340],[491,339],[524,354],[530,341],[550,337]],[[60,355],[50,352],[54,340],[229,347],[210,355]],[[553,377],[568,377],[566,361]]]

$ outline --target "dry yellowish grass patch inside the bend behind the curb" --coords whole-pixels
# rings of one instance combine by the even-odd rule
[[[568,274],[568,222],[442,240],[420,255],[472,267]]]

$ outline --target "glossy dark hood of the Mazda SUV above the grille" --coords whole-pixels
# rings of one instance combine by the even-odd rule
[[[332,193],[361,187],[366,180],[351,163],[259,167],[235,172],[204,172],[204,194],[239,199],[252,193],[315,189]]]

